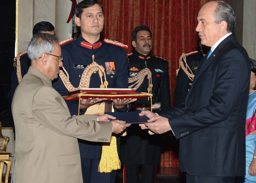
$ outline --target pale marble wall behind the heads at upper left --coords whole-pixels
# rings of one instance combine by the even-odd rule
[[[17,0],[18,46],[17,53],[27,49],[32,29],[40,21],[48,21],[55,27],[55,34],[64,40],[72,36],[72,20],[67,23],[72,2],[70,0]]]

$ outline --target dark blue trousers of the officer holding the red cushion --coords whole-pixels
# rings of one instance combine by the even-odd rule
[[[100,173],[98,171],[100,160],[81,158],[81,167],[84,183],[115,183],[116,171]]]

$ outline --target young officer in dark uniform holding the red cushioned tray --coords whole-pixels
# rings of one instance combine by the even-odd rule
[[[128,60],[125,49],[114,45],[112,41],[102,41],[100,32],[104,25],[103,6],[97,0],[83,0],[76,6],[76,25],[81,27],[81,35],[76,41],[61,46],[63,67],[69,74],[69,81],[74,87],[79,87],[84,69],[94,61],[105,67],[108,88],[128,88]],[[121,46],[124,46],[120,44]],[[90,77],[90,88],[99,88],[101,80],[99,73]],[[62,96],[68,95],[61,78],[52,85]],[[87,112],[87,108],[95,106],[105,99],[89,98],[80,101],[80,109]],[[113,99],[113,108],[116,111],[128,110],[128,103],[136,99]],[[112,102],[105,102],[105,112],[111,112]],[[79,102],[68,101],[71,115],[78,113]],[[80,111],[81,111],[80,110]],[[98,112],[98,111],[95,111]],[[95,113],[96,114],[96,113]],[[117,138],[119,148],[119,138]],[[116,171],[111,173],[98,172],[102,155],[102,142],[88,142],[79,140],[81,167],[84,183],[114,183]]]

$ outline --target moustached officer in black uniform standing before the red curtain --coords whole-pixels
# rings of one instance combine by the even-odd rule
[[[132,45],[135,52],[128,56],[128,77],[137,76],[138,73],[148,68],[152,73],[152,82],[145,76],[143,83],[136,92],[151,92],[152,111],[171,107],[169,90],[168,61],[150,55],[152,49],[152,34],[147,26],[138,26],[132,32]],[[149,79],[150,80],[150,79]],[[153,86],[149,86],[150,84]],[[151,99],[138,99],[131,104],[131,110],[150,110]],[[131,111],[130,110],[130,111]],[[124,182],[136,183],[140,166],[142,167],[143,183],[154,183],[157,165],[160,165],[161,136],[150,135],[148,131],[141,130],[137,124],[126,128],[127,135],[121,139],[120,160],[124,165]]]

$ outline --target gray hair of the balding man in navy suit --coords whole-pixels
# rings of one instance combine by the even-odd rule
[[[213,14],[215,23],[219,24],[221,21],[225,21],[227,22],[227,31],[233,32],[236,26],[236,16],[233,9],[223,1],[216,0],[214,2],[218,3]]]

